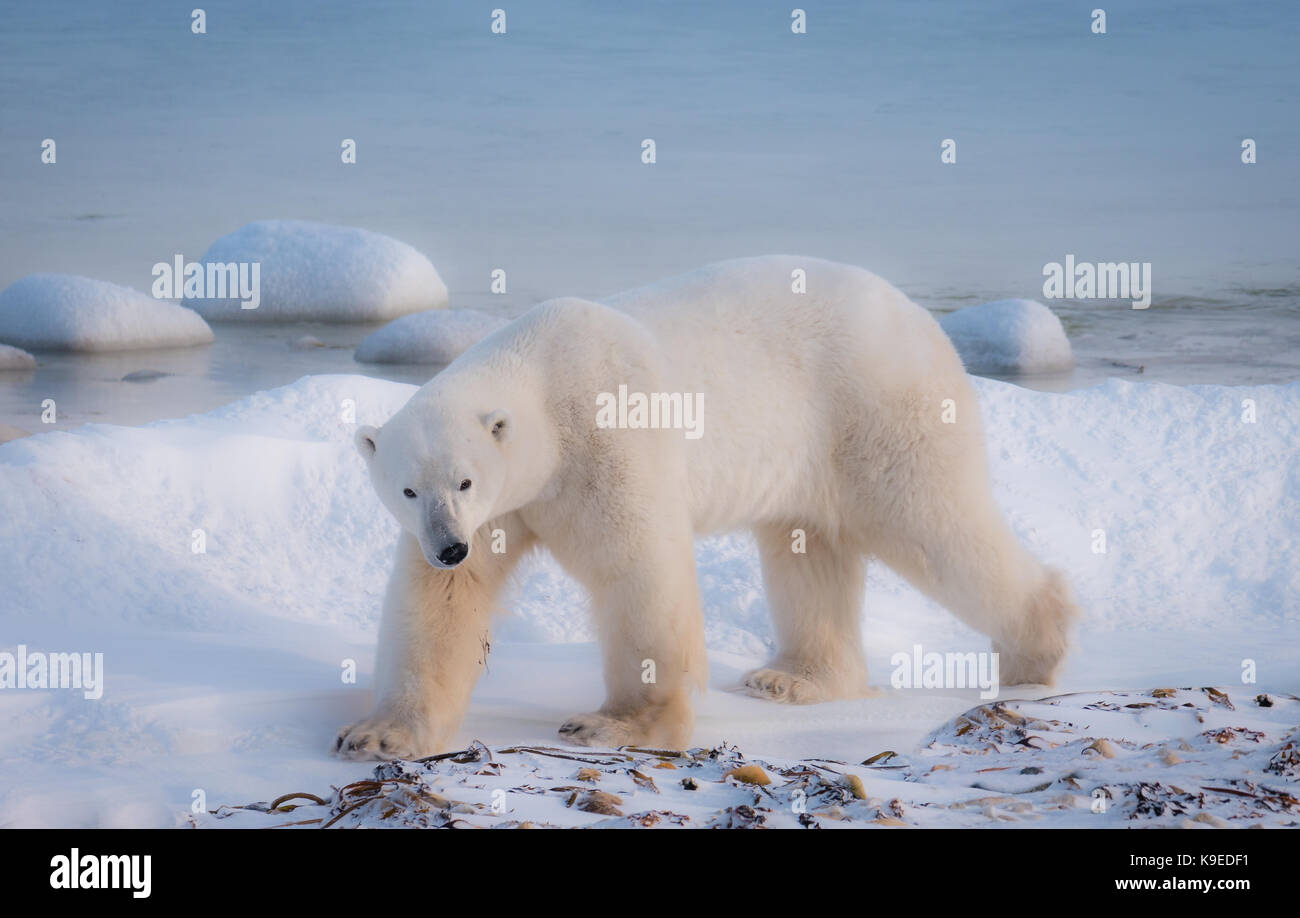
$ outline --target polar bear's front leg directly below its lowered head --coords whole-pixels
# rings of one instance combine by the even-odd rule
[[[500,554],[488,534],[498,528],[508,549]],[[476,534],[468,560],[439,571],[416,538],[402,533],[380,622],[376,707],[339,731],[337,754],[393,759],[446,749],[488,664],[497,593],[532,542],[512,516],[494,520]]]

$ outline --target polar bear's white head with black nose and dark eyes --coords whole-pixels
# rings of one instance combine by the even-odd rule
[[[382,428],[356,429],[380,501],[420,541],[430,566],[464,562],[474,532],[493,518],[507,481],[502,447],[512,426],[504,408],[408,403]]]

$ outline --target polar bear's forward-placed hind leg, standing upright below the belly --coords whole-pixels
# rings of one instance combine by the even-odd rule
[[[755,531],[779,646],[772,662],[745,675],[745,689],[793,705],[862,697],[868,692],[861,629],[866,559],[810,527],[803,532],[798,553],[790,527]]]

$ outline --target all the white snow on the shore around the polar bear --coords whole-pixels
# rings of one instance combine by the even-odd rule
[[[1046,701],[1035,705],[1043,693],[1004,689],[998,702],[1020,716],[1069,729],[1040,729],[1057,745],[1037,752],[1005,750],[991,739],[996,748],[975,758],[976,737],[957,731],[961,715],[989,707],[978,689],[892,689],[890,658],[914,644],[945,653],[983,650],[988,641],[880,567],[870,575],[863,616],[879,696],[811,707],[742,696],[734,687],[763,662],[772,632],[753,541],[727,534],[697,546],[711,672],[694,745],[732,744],[771,768],[814,758],[838,767],[836,761],[897,753],[913,771],[859,770],[884,810],[870,800],[845,802],[845,824],[890,817],[894,798],[909,824],[1004,822],[998,813],[1035,824],[1101,824],[1087,820],[1078,800],[1058,800],[1088,797],[1093,779],[1117,788],[1117,820],[1150,796],[1167,804],[1171,819],[1197,818],[1171,789],[1196,793],[1187,787],[1193,779],[1260,794],[1291,787],[1294,794],[1294,774],[1268,771],[1266,759],[1282,753],[1300,723],[1296,706],[1283,703],[1300,689],[1300,384],[1110,381],[1069,394],[975,385],[997,498],[1026,544],[1067,572],[1086,610],[1056,689],[1083,694],[1058,703],[1098,719],[1082,722],[1078,710],[1049,716]],[[98,701],[66,689],[0,690],[0,826],[178,826],[191,815],[207,824],[203,813],[222,806],[296,791],[328,801],[332,785],[373,775],[373,763],[326,754],[338,728],[370,705],[378,607],[396,537],[351,436],[355,424],[386,420],[413,390],[363,376],[304,377],[207,415],[144,428],[91,424],[0,446],[0,520],[21,521],[0,527],[0,650],[22,644],[103,653],[105,672]],[[200,536],[205,551],[196,553]],[[499,750],[558,748],[560,722],[598,706],[601,662],[585,605],[549,555],[525,562],[459,746],[488,744],[490,761],[511,775],[552,762]],[[342,679],[347,661],[358,664],[356,684]],[[1247,671],[1257,683],[1243,684]],[[1202,685],[1222,687],[1235,709],[1200,689],[1171,696],[1167,706],[1152,694]],[[1136,694],[1098,694],[1106,689]],[[1261,693],[1277,706],[1253,703]],[[1148,702],[1154,707],[1127,707]],[[1118,710],[1087,707],[1110,703]],[[1219,741],[1202,735],[1230,728],[1238,732],[1226,735],[1218,754]],[[1098,737],[1109,737],[1113,759],[1092,762],[1083,752]],[[1166,749],[1186,765],[1167,774],[1154,765]],[[529,771],[529,780],[577,784],[577,763],[554,762]],[[1080,788],[1061,785],[1075,762],[1092,770]],[[952,787],[949,770],[935,765],[959,772]],[[1117,771],[1128,766],[1153,778]],[[980,772],[987,767],[1002,770]],[[997,778],[1019,780],[1022,767],[1041,767],[1056,783],[1031,793]],[[667,768],[640,770],[667,785],[659,779]],[[901,784],[897,776],[909,774],[924,787]],[[618,796],[634,791],[620,775],[599,787]],[[732,807],[728,818],[741,818],[736,807],[753,809],[737,796],[749,791],[714,771],[701,775],[720,788],[710,813]],[[1248,784],[1265,791],[1245,791]],[[784,779],[777,791],[793,793]],[[1030,796],[1020,800],[1022,792]],[[486,802],[490,788],[463,798],[439,793],[472,805]],[[679,806],[664,796],[662,805],[627,800],[620,810]],[[950,817],[916,813],[980,797],[1013,797],[1031,809],[988,802]],[[788,802],[781,797],[777,809]],[[1284,801],[1275,805],[1296,819]],[[563,801],[536,813],[514,798],[511,806],[511,818],[540,822],[618,819]],[[1209,815],[1238,824],[1275,822],[1277,813],[1214,804]]]

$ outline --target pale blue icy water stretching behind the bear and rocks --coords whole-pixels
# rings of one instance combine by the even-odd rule
[[[1105,35],[1045,0],[827,0],[805,35],[790,7],[530,3],[493,35],[490,5],[281,0],[212,8],[195,35],[160,0],[0,3],[0,286],[147,290],[155,263],[270,217],[394,235],[454,306],[511,315],[764,252],[946,311],[1041,299],[1043,265],[1074,255],[1150,263],[1153,306],[1053,302],[1079,368],[1023,384],[1300,378],[1300,4],[1121,1]],[[368,330],[38,354],[0,374],[0,423],[47,429],[47,398],[58,426],[138,424],[304,373],[433,372],[358,367]]]

